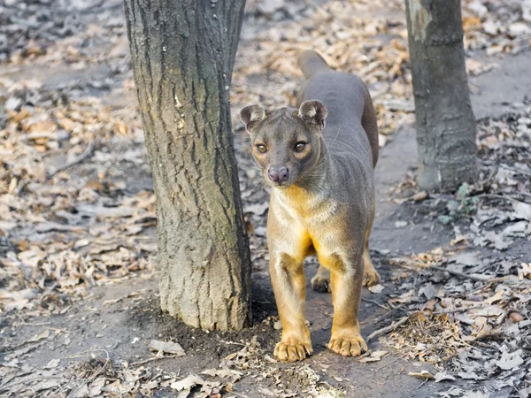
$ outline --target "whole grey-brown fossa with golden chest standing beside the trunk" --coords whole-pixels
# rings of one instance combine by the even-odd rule
[[[332,292],[328,348],[342,356],[367,349],[358,323],[361,287],[380,281],[368,248],[378,159],[373,103],[358,77],[332,71],[317,53],[304,51],[299,65],[308,80],[298,110],[266,115],[250,105],[241,112],[253,156],[273,187],[267,237],[283,328],[274,355],[290,362],[312,354],[304,321],[306,256],[319,258],[312,288]],[[285,179],[273,182],[271,170]]]

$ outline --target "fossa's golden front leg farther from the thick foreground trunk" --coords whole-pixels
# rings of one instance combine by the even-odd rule
[[[367,350],[359,330],[358,312],[363,282],[363,258],[332,255],[330,269],[334,320],[327,347],[342,356],[358,356]]]

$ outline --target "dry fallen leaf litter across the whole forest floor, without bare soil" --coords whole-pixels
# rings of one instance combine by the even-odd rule
[[[82,71],[112,64],[113,73],[123,79],[121,92],[133,89],[123,17],[110,11],[118,3],[104,6],[97,0],[80,0],[65,7],[57,6],[56,0],[27,7],[11,0],[4,3],[0,17],[0,62],[4,65],[66,65],[70,71]],[[412,123],[403,1],[248,3],[231,94],[236,129],[242,127],[236,117],[239,104],[259,101],[271,109],[294,103],[302,82],[296,54],[307,47],[318,48],[330,65],[366,80],[378,113],[381,146],[392,140],[401,126]],[[529,48],[528,3],[463,2],[468,73],[478,75],[497,67],[495,57],[479,60],[473,51],[495,56]],[[373,18],[373,9],[379,7],[393,12]],[[80,12],[85,13],[84,19],[79,18]],[[109,80],[84,84],[90,90],[114,89]],[[153,273],[155,197],[150,187],[129,187],[127,176],[133,167],[141,171],[140,179],[150,180],[138,111],[130,104],[109,106],[89,96],[85,88],[80,90],[78,81],[50,89],[38,77],[0,79],[5,111],[0,118],[3,314],[64,314],[72,302],[89,295],[90,287],[139,275],[150,278]],[[397,353],[435,364],[441,370],[433,375],[437,381],[489,379],[494,389],[510,385],[523,394],[531,379],[530,293],[524,283],[531,276],[531,260],[519,258],[511,250],[528,241],[531,233],[531,113],[523,104],[516,108],[505,119],[479,123],[481,184],[466,187],[451,198],[428,197],[416,192],[412,173],[392,193],[400,202],[404,192],[412,192],[413,202],[433,206],[435,217],[441,216],[441,211],[436,211],[438,203],[446,203],[443,221],[470,227],[462,233],[458,229],[465,231],[465,227],[459,224],[455,244],[450,247],[393,260],[401,268],[409,267],[407,272],[418,279],[415,283],[407,279],[400,287],[404,294],[389,300],[389,305],[406,310],[408,318],[384,341]],[[256,183],[261,177],[249,160],[241,163],[246,220],[254,232],[250,236],[253,269],[265,273],[267,193]],[[481,198],[476,201],[474,196]],[[481,250],[494,250],[495,256],[485,258]],[[456,272],[503,280],[463,279]],[[426,283],[419,287],[419,281]],[[381,287],[373,290],[381,293]],[[127,297],[130,295],[105,305]],[[301,386],[309,396],[344,395],[319,381],[307,364],[279,370],[258,341],[247,342],[227,356],[220,369],[205,370],[199,373],[202,376],[113,362],[101,356],[101,351],[90,353],[71,373],[63,371],[65,360],[61,358],[50,359],[42,369],[23,362],[27,352],[58,334],[43,329],[6,357],[0,366],[2,392],[7,389],[21,395],[31,389],[42,396],[55,396],[60,387],[69,396],[150,395],[158,388],[176,386],[182,387],[178,396],[231,396],[232,384],[251,372],[256,378],[274,380],[275,387],[259,387],[266,396],[296,396]],[[165,357],[164,349],[157,352],[160,355],[150,359]],[[374,351],[361,361],[378,361],[386,352]],[[422,377],[426,375],[422,371],[419,374],[431,379]],[[487,396],[480,389],[460,387],[441,395]]]

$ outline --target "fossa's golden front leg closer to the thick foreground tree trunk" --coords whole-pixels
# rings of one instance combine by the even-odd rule
[[[281,361],[301,361],[312,354],[310,330],[304,319],[306,279],[303,261],[286,253],[271,254],[270,273],[282,324],[282,337],[274,348]]]

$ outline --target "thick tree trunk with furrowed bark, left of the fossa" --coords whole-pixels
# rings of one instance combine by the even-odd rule
[[[157,195],[163,310],[208,330],[250,324],[250,253],[229,86],[244,0],[125,0]]]

